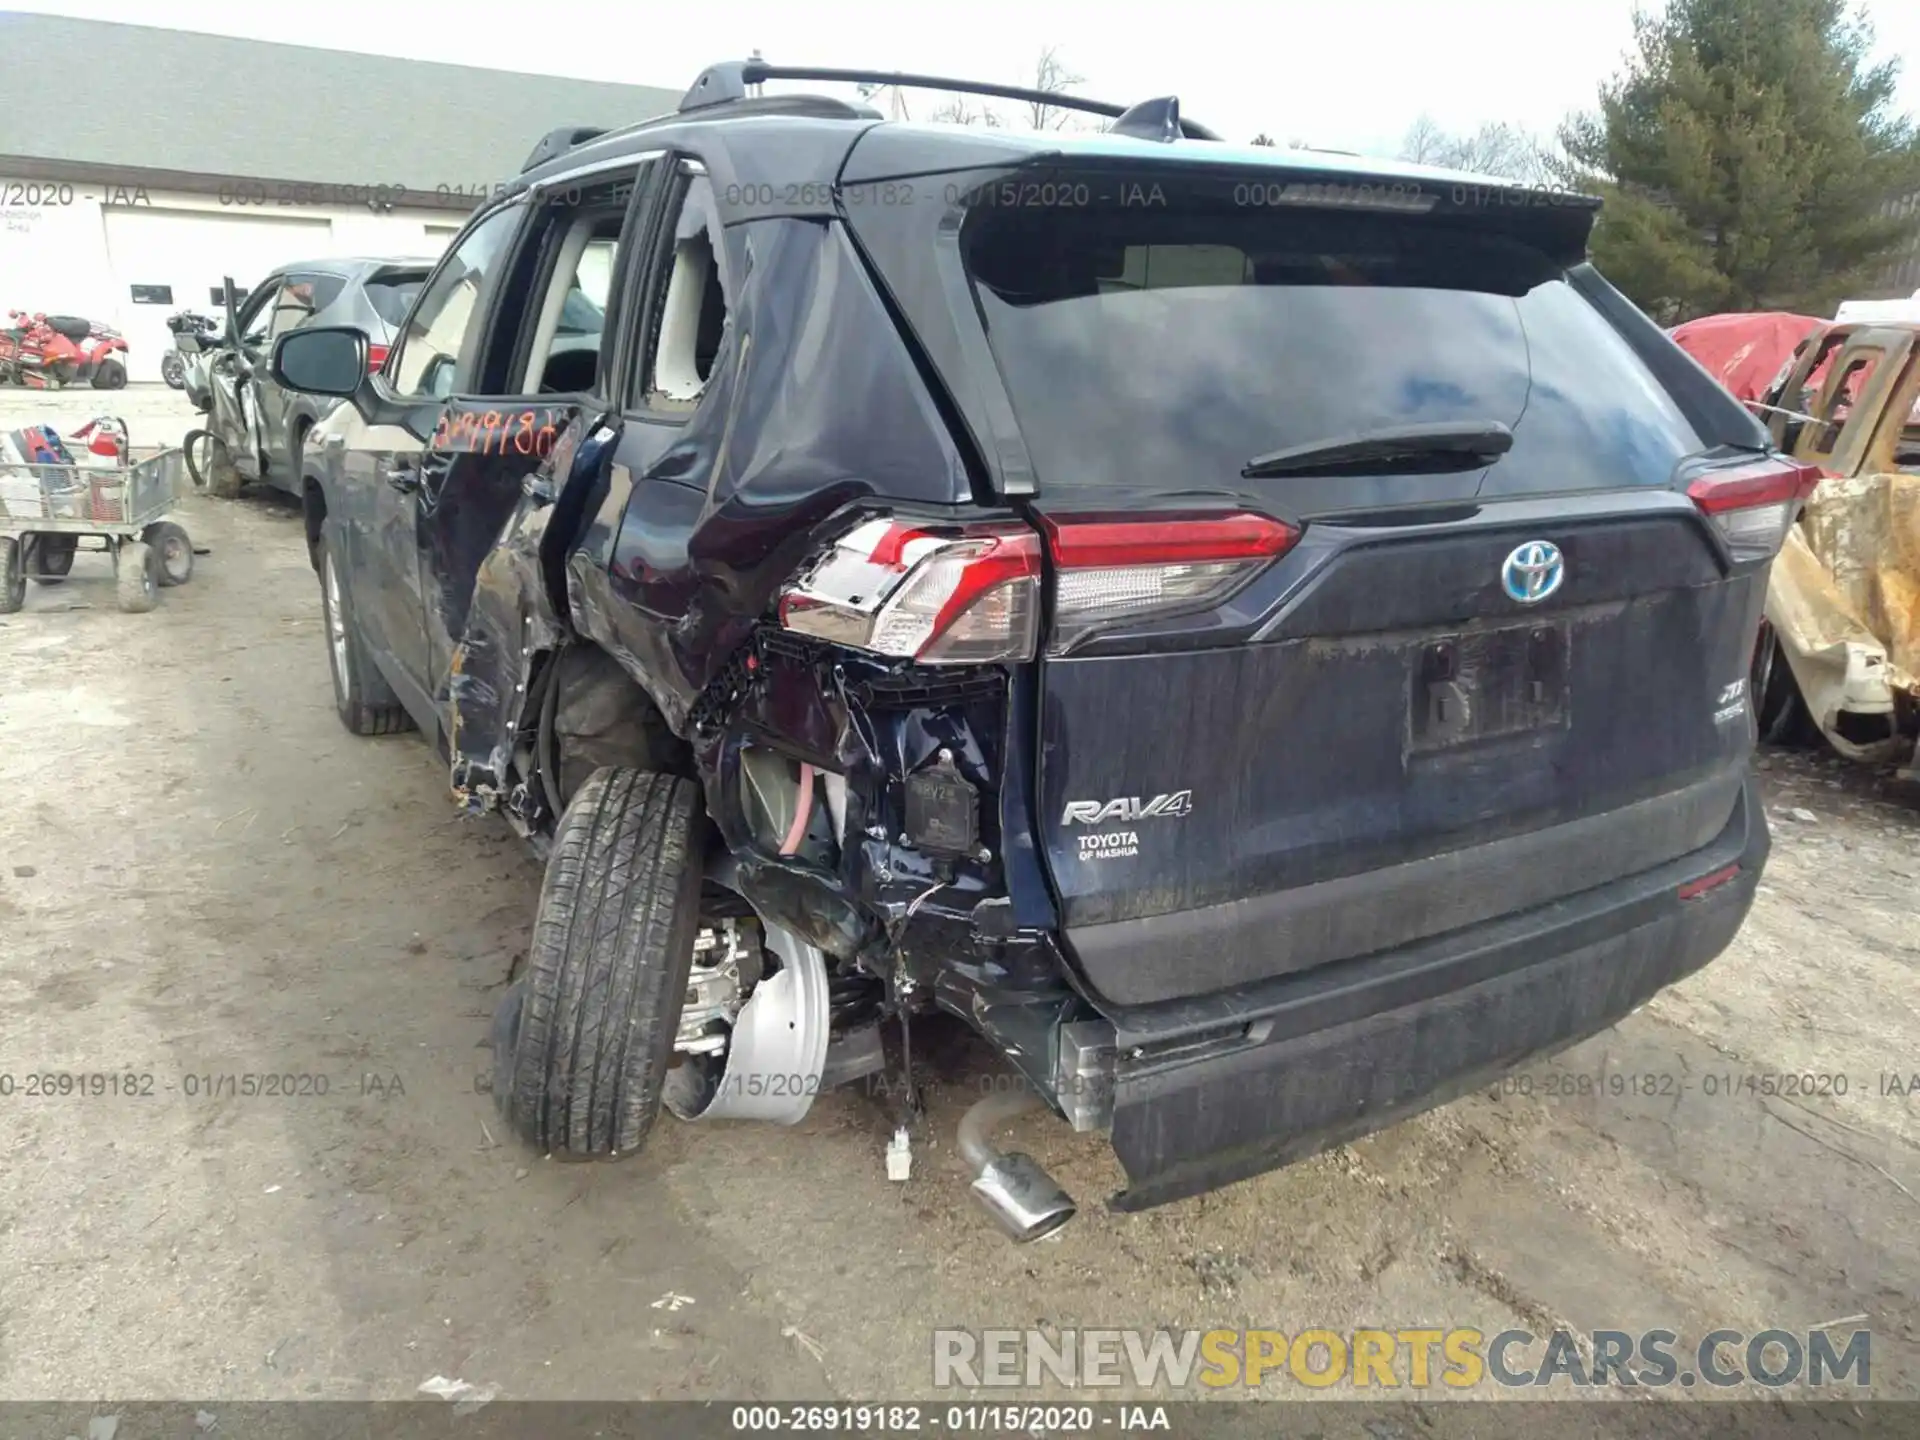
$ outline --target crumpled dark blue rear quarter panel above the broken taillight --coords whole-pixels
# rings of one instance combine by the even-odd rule
[[[676,733],[849,507],[972,501],[968,467],[845,228],[724,230],[728,326],[691,413],[636,411],[568,563],[574,622]]]

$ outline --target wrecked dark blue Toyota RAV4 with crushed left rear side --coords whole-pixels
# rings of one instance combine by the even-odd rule
[[[1812,474],[1588,265],[1597,202],[766,79],[1018,96],[714,67],[543,140],[376,372],[273,357],[351,399],[301,474],[342,718],[545,854],[530,1144],[912,1094],[945,1010],[1018,1071],[960,1152],[1033,1238],[1073,1202],[993,1146],[1023,1104],[1154,1206],[1726,947]]]

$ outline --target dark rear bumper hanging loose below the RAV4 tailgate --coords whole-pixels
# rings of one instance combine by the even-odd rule
[[[1260,987],[1110,1010],[1116,1210],[1260,1175],[1607,1029],[1740,929],[1766,860],[1749,780],[1707,847],[1594,891]],[[1692,879],[1738,864],[1697,899]]]

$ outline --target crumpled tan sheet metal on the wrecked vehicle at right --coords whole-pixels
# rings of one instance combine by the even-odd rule
[[[1857,745],[1841,708],[1889,710],[1920,695],[1920,476],[1826,478],[1774,561],[1766,618],[1820,732],[1841,755],[1895,758],[1905,741]]]

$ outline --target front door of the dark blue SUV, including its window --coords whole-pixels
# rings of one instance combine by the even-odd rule
[[[524,202],[513,202],[476,217],[420,288],[386,365],[371,380],[382,411],[401,419],[372,424],[355,413],[338,430],[355,618],[380,672],[422,728],[434,705],[420,595],[420,503],[422,492],[428,507],[438,501],[449,463],[444,449],[428,457],[428,442],[442,428],[447,399],[474,388],[461,376],[476,372],[486,311],[526,213]]]

